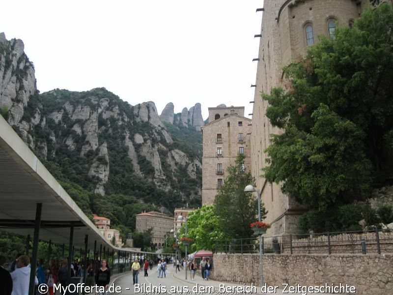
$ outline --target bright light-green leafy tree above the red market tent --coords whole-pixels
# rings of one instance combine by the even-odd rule
[[[179,232],[179,238],[183,236],[186,236],[185,223],[182,224]],[[190,212],[187,218],[187,237],[193,239],[191,247],[188,248],[190,252],[214,250],[216,240],[225,238],[224,232],[220,229],[219,218],[213,206],[204,205]],[[183,245],[181,245],[181,249],[184,251]]]

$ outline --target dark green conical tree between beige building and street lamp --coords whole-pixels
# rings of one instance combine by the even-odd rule
[[[255,178],[251,176],[251,172],[244,171],[244,159],[244,154],[238,154],[235,165],[227,168],[224,185],[214,201],[220,228],[225,236],[230,238],[251,237],[253,230],[250,228],[250,223],[257,220],[258,215],[255,195],[244,192],[247,185],[255,186]],[[261,216],[262,219],[266,217],[263,204],[261,204]]]

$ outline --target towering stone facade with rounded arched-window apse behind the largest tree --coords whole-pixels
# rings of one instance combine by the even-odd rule
[[[284,195],[280,184],[266,183],[266,179],[259,177],[267,165],[264,151],[269,146],[270,136],[281,132],[265,116],[268,103],[261,98],[261,93],[270,94],[273,88],[283,86],[283,67],[303,56],[309,46],[318,42],[318,35],[332,37],[337,24],[351,26],[367,5],[382,2],[392,0],[264,1],[253,101],[251,166],[257,188],[263,188],[262,202],[269,211],[266,221],[272,228],[268,236],[295,233],[305,207]]]

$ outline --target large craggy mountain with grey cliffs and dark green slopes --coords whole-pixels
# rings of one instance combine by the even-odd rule
[[[39,94],[22,40],[0,34],[1,114],[87,213],[130,226],[127,212],[102,212],[105,198],[119,195],[113,210],[132,202],[165,212],[200,206],[202,154],[191,146],[201,144],[197,105],[179,129],[163,122],[170,116],[161,119],[154,102],[133,106],[105,88]]]

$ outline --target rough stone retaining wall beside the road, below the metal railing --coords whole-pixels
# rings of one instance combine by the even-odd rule
[[[214,280],[260,285],[258,254],[215,254],[213,262]],[[263,276],[267,285],[279,289],[283,288],[282,284],[341,283],[355,286],[357,295],[387,295],[393,292],[393,254],[266,254]]]

